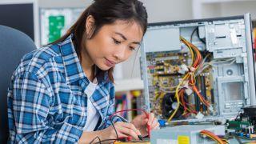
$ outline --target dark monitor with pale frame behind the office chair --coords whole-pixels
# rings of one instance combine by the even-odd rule
[[[1,0],[0,25],[24,32],[39,46],[38,1]]]

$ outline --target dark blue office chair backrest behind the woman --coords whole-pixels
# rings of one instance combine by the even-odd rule
[[[7,89],[22,56],[35,50],[33,40],[13,28],[0,25],[0,143],[6,143],[8,130]]]

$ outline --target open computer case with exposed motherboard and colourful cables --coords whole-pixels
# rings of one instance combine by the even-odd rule
[[[250,14],[151,23],[141,52],[143,108],[158,118],[233,118],[256,104]]]

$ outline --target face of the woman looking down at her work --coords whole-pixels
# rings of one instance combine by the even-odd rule
[[[86,52],[90,61],[101,70],[126,61],[138,50],[143,33],[136,22],[118,20],[102,26],[94,37],[86,40]]]

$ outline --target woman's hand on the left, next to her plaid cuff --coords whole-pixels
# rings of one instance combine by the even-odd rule
[[[114,127],[117,130],[118,138],[123,137],[132,137],[138,140],[138,135],[141,135],[140,131],[136,129],[136,127],[132,123],[127,122],[115,122]],[[104,139],[116,139],[117,134],[114,130],[113,126],[109,126],[108,128],[102,130],[102,138]]]

